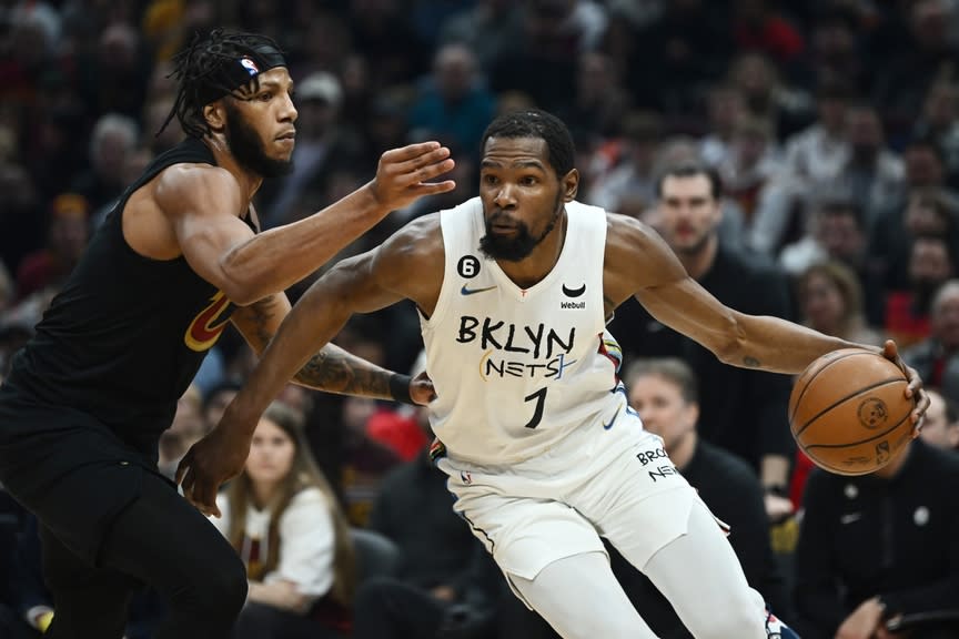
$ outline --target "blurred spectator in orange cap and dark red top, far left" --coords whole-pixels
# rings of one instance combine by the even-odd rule
[[[23,257],[17,268],[20,300],[48,287],[59,287],[73,270],[89,239],[90,206],[77,193],[63,193],[50,205],[47,246]]]

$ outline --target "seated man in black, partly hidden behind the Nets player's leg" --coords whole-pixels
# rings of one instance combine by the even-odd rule
[[[693,371],[682,359],[637,359],[626,368],[623,382],[643,426],[663,437],[669,459],[709,510],[731,529],[729,542],[749,586],[777,616],[790,618],[783,576],[769,546],[763,486],[741,458],[699,438],[698,385]],[[690,637],[653,584],[622,557],[614,557],[626,594],[657,636]]]

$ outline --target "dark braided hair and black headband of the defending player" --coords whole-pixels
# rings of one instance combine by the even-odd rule
[[[176,100],[157,134],[173,118],[192,138],[212,133],[203,116],[206,104],[226,94],[242,99],[236,91],[248,87],[258,91],[260,73],[285,65],[280,47],[266,36],[224,29],[194,34],[190,44],[173,58],[173,71],[168,77],[176,80]]]

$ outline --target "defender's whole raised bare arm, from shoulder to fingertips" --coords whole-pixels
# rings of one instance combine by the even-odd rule
[[[239,184],[222,169],[164,171],[157,202],[191,267],[242,306],[313,273],[391,211],[451,191],[452,180],[431,181],[453,166],[437,142],[386,151],[367,184],[310,217],[255,235],[236,217]]]

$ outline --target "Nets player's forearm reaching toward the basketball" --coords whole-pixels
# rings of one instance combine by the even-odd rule
[[[736,333],[738,338],[718,353],[719,358],[733,366],[770,373],[796,375],[820,355],[864,346],[770,316],[737,314]]]

